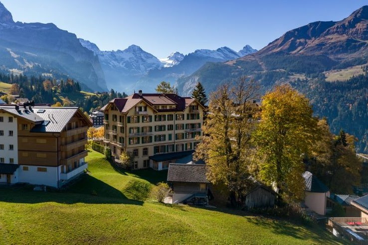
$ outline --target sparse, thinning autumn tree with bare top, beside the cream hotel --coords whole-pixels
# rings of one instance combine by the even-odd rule
[[[254,156],[250,135],[257,122],[253,103],[257,98],[257,84],[246,77],[233,87],[221,85],[210,96],[202,142],[195,151],[195,158],[204,159],[208,166],[208,180],[227,187],[232,206],[243,199],[250,182]]]

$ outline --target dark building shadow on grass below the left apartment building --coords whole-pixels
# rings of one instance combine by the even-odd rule
[[[36,192],[31,186],[0,186],[0,202],[63,204],[132,204],[143,205],[142,201],[130,200],[121,191],[90,175],[68,187],[66,191]]]

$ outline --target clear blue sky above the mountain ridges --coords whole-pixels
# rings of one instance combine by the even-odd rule
[[[101,50],[173,51],[249,44],[261,49],[286,31],[341,20],[367,0],[0,0],[14,21],[56,24]]]

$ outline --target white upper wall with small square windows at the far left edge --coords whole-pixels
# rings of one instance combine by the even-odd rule
[[[4,163],[9,163],[9,158],[14,159],[14,164],[18,164],[18,131],[17,119],[7,113],[0,113],[3,122],[0,122],[0,130],[4,131],[4,135],[0,136],[0,144],[4,145],[4,149],[0,150],[0,157],[4,158]],[[9,123],[9,117],[13,118],[13,122]],[[13,131],[13,136],[9,136],[9,131]],[[9,150],[9,145],[13,145],[13,150]]]

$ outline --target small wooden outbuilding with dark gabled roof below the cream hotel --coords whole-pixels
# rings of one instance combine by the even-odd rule
[[[208,204],[206,166],[202,164],[170,163],[168,182],[173,189],[173,203]]]

